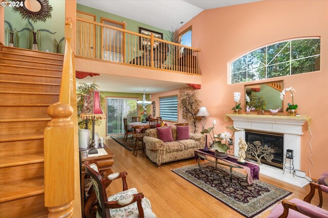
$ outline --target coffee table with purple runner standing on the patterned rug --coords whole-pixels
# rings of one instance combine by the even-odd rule
[[[247,181],[249,184],[253,183],[253,179],[258,179],[258,173],[259,173],[259,167],[257,164],[253,164],[248,162],[247,165],[241,165],[238,163],[233,163],[233,161],[237,161],[237,158],[234,156],[228,155],[226,158],[220,158],[214,155],[213,151],[204,151],[203,149],[195,150],[195,159],[198,161],[198,166],[201,169],[200,166],[200,160],[207,160],[212,163],[215,163],[215,168],[217,168],[217,164],[223,165],[223,166],[229,166],[230,168],[230,190],[233,188],[233,168],[243,168],[247,172]],[[250,169],[252,168],[252,169]],[[252,173],[250,173],[252,170]],[[255,172],[255,173],[254,173]],[[252,174],[252,175],[250,175]]]

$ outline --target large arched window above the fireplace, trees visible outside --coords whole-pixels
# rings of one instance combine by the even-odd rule
[[[230,83],[320,70],[320,38],[282,41],[249,52],[230,64]]]

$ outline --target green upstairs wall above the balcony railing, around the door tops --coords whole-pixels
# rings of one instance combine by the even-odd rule
[[[142,28],[146,28],[146,29],[149,29],[149,30],[153,30],[153,31],[156,31],[156,32],[163,33],[163,39],[167,40],[167,35],[169,33],[169,30],[163,30],[163,29],[160,29],[160,28],[157,28],[157,27],[153,27],[153,26],[144,24],[144,23],[140,23],[138,21],[135,21],[135,20],[132,20],[132,19],[129,19],[129,18],[126,18],[126,17],[121,17],[121,16],[118,16],[118,15],[115,15],[115,14],[111,14],[111,13],[108,13],[108,12],[105,12],[105,11],[101,11],[101,10],[98,10],[98,9],[95,9],[95,8],[90,8],[88,6],[84,6],[84,5],[80,5],[80,4],[76,4],[76,10],[84,11],[84,12],[96,15],[96,22],[98,22],[98,23],[100,23],[100,18],[101,17],[116,20],[116,21],[119,21],[119,22],[126,21],[127,22],[126,30],[138,33],[139,32],[139,27],[142,27]]]

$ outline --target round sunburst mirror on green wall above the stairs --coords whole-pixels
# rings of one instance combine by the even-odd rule
[[[34,22],[41,20],[46,21],[51,17],[52,7],[49,5],[48,0],[18,0],[22,2],[22,7],[14,7],[16,11],[19,11],[23,18],[30,17]]]

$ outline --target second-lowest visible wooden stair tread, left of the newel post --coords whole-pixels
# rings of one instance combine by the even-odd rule
[[[10,166],[20,166],[20,165],[33,164],[33,163],[43,163],[44,161],[45,161],[44,153],[7,156],[7,157],[1,157],[0,168],[10,167]]]

